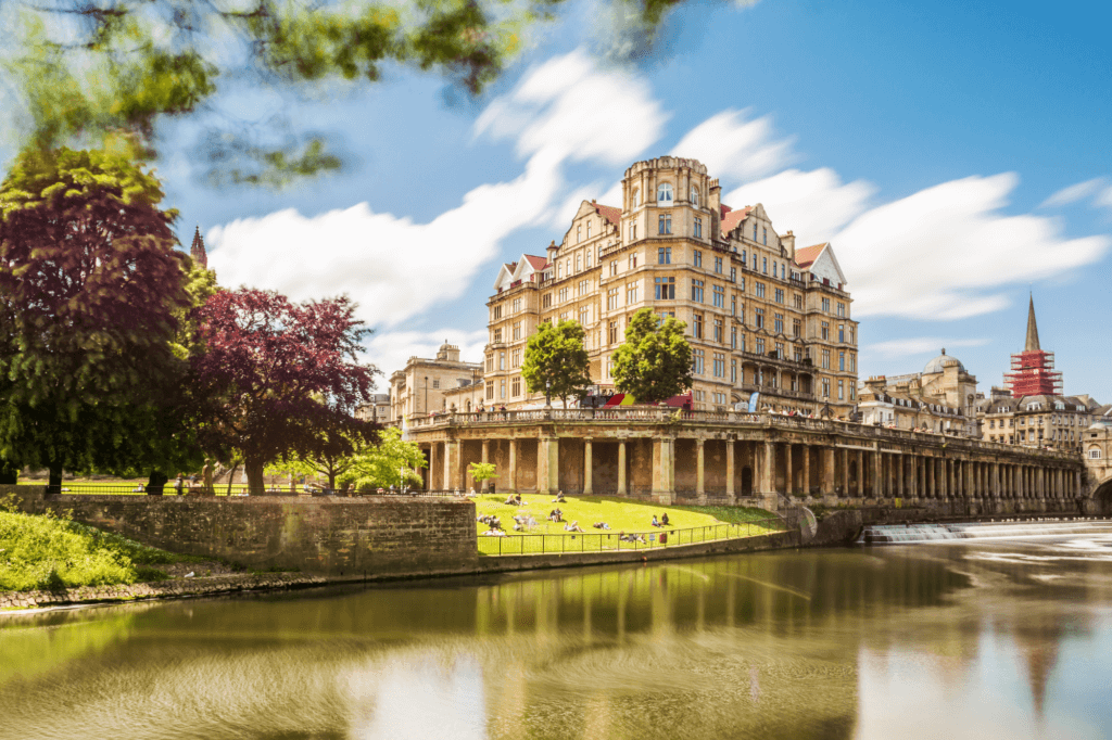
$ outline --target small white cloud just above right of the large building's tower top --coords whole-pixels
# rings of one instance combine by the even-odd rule
[[[767,116],[747,120],[747,110],[724,110],[687,132],[675,157],[697,159],[711,177],[733,182],[775,172],[797,159],[791,139],[774,139]]]

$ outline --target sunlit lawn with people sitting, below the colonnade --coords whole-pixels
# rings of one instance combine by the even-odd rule
[[[523,494],[522,506],[507,504],[507,494],[471,497],[477,514],[496,516],[508,537],[486,537],[487,524],[476,522],[479,534],[479,552],[540,553],[578,552],[597,550],[625,550],[661,547],[661,533],[667,533],[667,544],[689,544],[708,540],[765,534],[778,531],[780,520],[762,509],[743,507],[663,507],[629,499],[592,496],[568,496],[558,504],[564,512],[563,522],[548,521],[548,512],[557,504],[554,496]],[[526,531],[514,530],[514,516],[533,514],[537,526]],[[653,527],[653,516],[659,520],[668,516],[668,527]],[[770,517],[773,517],[770,520]],[[564,524],[578,521],[585,533],[568,532]],[[609,530],[593,527],[606,522]],[[619,532],[641,533],[644,542],[626,542],[618,539]]]

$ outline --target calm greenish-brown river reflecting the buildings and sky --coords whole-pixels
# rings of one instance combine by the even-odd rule
[[[0,738],[1112,738],[1112,527],[0,618]]]

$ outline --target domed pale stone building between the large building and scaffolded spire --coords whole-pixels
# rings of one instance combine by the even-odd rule
[[[977,436],[976,377],[942,350],[923,372],[876,376],[861,383],[862,423]]]

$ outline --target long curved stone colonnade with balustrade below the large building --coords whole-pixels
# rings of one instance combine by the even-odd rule
[[[735,411],[657,408],[445,413],[410,423],[431,489],[614,494],[659,503],[925,507],[939,514],[1073,512],[1076,454],[950,434]]]

